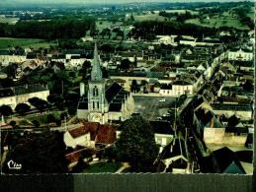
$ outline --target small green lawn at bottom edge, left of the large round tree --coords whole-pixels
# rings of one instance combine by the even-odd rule
[[[99,162],[90,165],[83,173],[116,172],[121,166],[121,162]]]

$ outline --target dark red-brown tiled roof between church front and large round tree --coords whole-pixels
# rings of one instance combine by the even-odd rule
[[[95,143],[112,144],[116,141],[116,127],[100,125]]]

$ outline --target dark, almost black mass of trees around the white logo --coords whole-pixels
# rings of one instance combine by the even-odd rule
[[[21,163],[22,169],[9,169],[9,160]],[[67,165],[63,133],[55,131],[17,135],[3,170],[6,173],[64,173],[68,171]]]

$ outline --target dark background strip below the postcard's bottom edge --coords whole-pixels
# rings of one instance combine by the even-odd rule
[[[252,177],[170,173],[2,175],[0,191],[250,192],[253,191]]]

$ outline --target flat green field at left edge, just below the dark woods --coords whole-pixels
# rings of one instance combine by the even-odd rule
[[[48,42],[43,39],[35,38],[0,38],[0,48],[8,48],[9,46],[21,46],[23,48],[47,48],[50,45],[55,45],[53,42]]]

